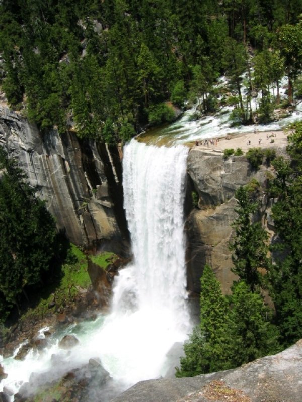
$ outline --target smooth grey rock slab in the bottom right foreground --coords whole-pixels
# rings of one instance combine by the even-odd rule
[[[113,402],[300,402],[301,372],[302,340],[233,370],[141,381]]]

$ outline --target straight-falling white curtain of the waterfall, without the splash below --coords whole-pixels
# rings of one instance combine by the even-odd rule
[[[125,147],[125,210],[138,308],[167,310],[186,322],[183,205],[188,149]],[[184,316],[182,316],[184,315]]]

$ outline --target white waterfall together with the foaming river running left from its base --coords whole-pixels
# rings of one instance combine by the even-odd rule
[[[119,390],[171,374],[171,365],[178,363],[167,356],[190,332],[183,230],[187,154],[183,146],[136,140],[125,146],[125,211],[134,257],[115,278],[111,312],[54,334],[48,348],[30,351],[24,361],[0,356],[8,374],[0,390],[6,386],[17,392],[32,372],[48,381],[60,378],[90,358],[101,360]],[[58,347],[65,333],[80,341],[68,351]]]

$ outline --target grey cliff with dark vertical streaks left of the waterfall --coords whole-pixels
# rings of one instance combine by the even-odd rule
[[[0,145],[16,157],[71,242],[127,237],[117,147],[79,140],[72,132],[40,133],[8,109],[0,109]]]

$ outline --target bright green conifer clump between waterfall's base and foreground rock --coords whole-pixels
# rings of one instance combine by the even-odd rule
[[[240,281],[229,298],[206,265],[201,277],[200,325],[184,344],[185,356],[176,368],[177,377],[189,377],[234,368],[279,351],[278,331],[272,312],[259,293]]]

